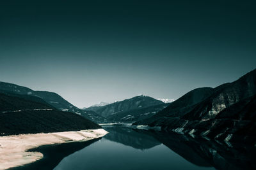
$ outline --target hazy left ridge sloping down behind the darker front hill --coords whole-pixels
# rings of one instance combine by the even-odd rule
[[[25,97],[34,96],[40,97],[46,103],[50,104],[54,108],[61,111],[70,111],[82,115],[93,122],[104,122],[104,118],[94,111],[85,111],[77,108],[76,106],[68,103],[63,97],[54,93],[54,92],[45,92],[45,91],[35,91],[31,90],[28,87],[22,87],[12,83],[5,83],[0,81],[0,92],[8,92],[13,94],[24,95]]]

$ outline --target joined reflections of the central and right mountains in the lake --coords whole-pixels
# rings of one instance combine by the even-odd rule
[[[255,146],[127,127],[106,127],[106,130],[109,134],[104,138],[136,149],[150,149],[163,143],[196,166],[216,169],[256,169],[253,161],[256,154]]]

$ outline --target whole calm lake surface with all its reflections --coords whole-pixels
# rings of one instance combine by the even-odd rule
[[[255,169],[255,147],[178,134],[104,127],[102,139],[41,146],[44,159],[17,169]]]

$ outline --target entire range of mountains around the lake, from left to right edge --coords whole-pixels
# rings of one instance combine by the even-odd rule
[[[256,69],[232,83],[191,90],[172,103],[141,95],[79,109],[54,92],[4,82],[0,100],[1,135],[134,122],[133,127],[157,127],[193,138],[255,143]]]

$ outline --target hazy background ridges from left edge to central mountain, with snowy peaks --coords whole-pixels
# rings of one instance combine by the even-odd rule
[[[56,110],[76,113],[95,123],[136,122],[152,117],[158,111],[168,106],[170,102],[168,99],[161,99],[163,102],[141,95],[132,97],[131,99],[125,99],[124,101],[116,101],[115,103],[100,102],[89,108],[79,109],[54,92],[35,91],[28,87],[1,81],[0,92],[12,95],[16,94],[24,98],[33,97],[33,100],[48,104],[56,108]]]

